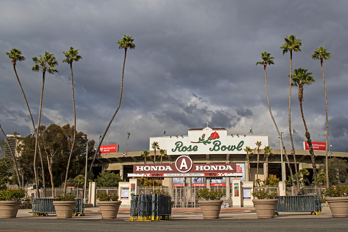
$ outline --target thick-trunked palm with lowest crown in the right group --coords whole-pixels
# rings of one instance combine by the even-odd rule
[[[314,77],[312,76],[312,73],[307,73],[307,69],[303,68],[297,68],[294,70],[293,75],[293,86],[299,87],[299,109],[301,110],[301,116],[302,120],[304,121],[304,129],[306,130],[306,138],[307,143],[309,146],[309,153],[310,158],[312,160],[312,168],[313,168],[313,177],[314,177],[314,185],[317,187],[318,180],[317,180],[317,168],[315,166],[315,156],[314,151],[312,147],[312,140],[310,140],[310,133],[308,131],[306,120],[304,119],[304,111],[302,109],[302,101],[304,101],[304,85],[310,85],[311,83],[315,82]],[[297,175],[298,178],[298,175]]]

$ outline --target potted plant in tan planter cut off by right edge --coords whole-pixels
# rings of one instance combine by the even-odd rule
[[[348,186],[332,186],[325,190],[325,201],[334,218],[348,217]]]

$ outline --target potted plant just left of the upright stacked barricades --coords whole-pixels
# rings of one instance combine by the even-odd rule
[[[101,210],[101,218],[115,219],[121,205],[121,201],[118,201],[118,195],[100,192],[96,194],[96,197],[98,198],[97,203],[99,205],[99,209]]]

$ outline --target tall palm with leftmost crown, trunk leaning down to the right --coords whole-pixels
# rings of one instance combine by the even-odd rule
[[[25,93],[24,93],[24,90],[23,90],[21,81],[19,80],[19,77],[18,77],[18,74],[17,74],[17,70],[16,70],[16,64],[17,64],[17,62],[18,62],[18,61],[19,61],[19,62],[24,61],[24,60],[25,60],[25,57],[22,55],[22,51],[21,51],[21,50],[18,50],[18,49],[16,49],[16,48],[11,49],[11,51],[10,51],[9,53],[6,53],[6,55],[8,55],[8,57],[12,60],[13,69],[14,69],[14,74],[16,75],[16,78],[17,78],[19,87],[21,88],[21,91],[22,91],[22,94],[23,94],[23,97],[24,97],[24,100],[25,100],[25,104],[27,105],[27,109],[28,109],[28,112],[29,112],[29,116],[30,116],[30,118],[31,118],[31,123],[32,123],[32,125],[33,125],[33,129],[34,129],[34,131],[36,131],[35,123],[34,123],[34,119],[33,119],[33,115],[31,114],[30,107],[29,107],[29,104],[28,104],[28,101],[27,101],[27,96],[25,96]],[[40,160],[41,160],[41,168],[42,168],[42,170],[43,170],[44,164],[43,164],[43,162],[42,162],[42,155],[41,155],[40,146],[38,146],[38,151],[39,151]],[[44,172],[42,172],[42,179],[44,179]],[[42,182],[42,185],[43,185],[44,194],[45,194],[45,189],[46,189],[45,181]]]

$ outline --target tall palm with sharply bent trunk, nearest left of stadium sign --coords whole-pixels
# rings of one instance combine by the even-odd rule
[[[93,164],[94,161],[96,160],[96,155],[99,153],[99,149],[101,149],[101,144],[103,143],[103,140],[105,138],[105,135],[107,133],[107,131],[109,130],[109,127],[113,121],[113,118],[115,118],[118,109],[120,109],[120,105],[121,105],[121,99],[122,99],[122,90],[123,90],[123,77],[124,77],[124,66],[126,64],[126,55],[127,55],[127,50],[128,49],[135,49],[135,44],[133,43],[134,39],[132,38],[132,36],[128,36],[128,35],[124,35],[122,40],[118,40],[117,44],[120,44],[120,47],[118,47],[118,49],[124,49],[124,59],[123,59],[123,68],[122,68],[122,80],[121,80],[121,91],[120,91],[120,101],[118,102],[118,107],[115,111],[115,113],[113,114],[109,125],[107,125],[107,129],[105,129],[105,132],[103,133],[103,136],[101,138],[101,141],[99,142],[98,145],[98,149],[96,149],[96,153],[94,153],[93,159],[92,159],[92,164],[90,166],[90,170],[88,172],[88,177],[90,176],[90,173],[92,172],[92,168],[93,168]]]

